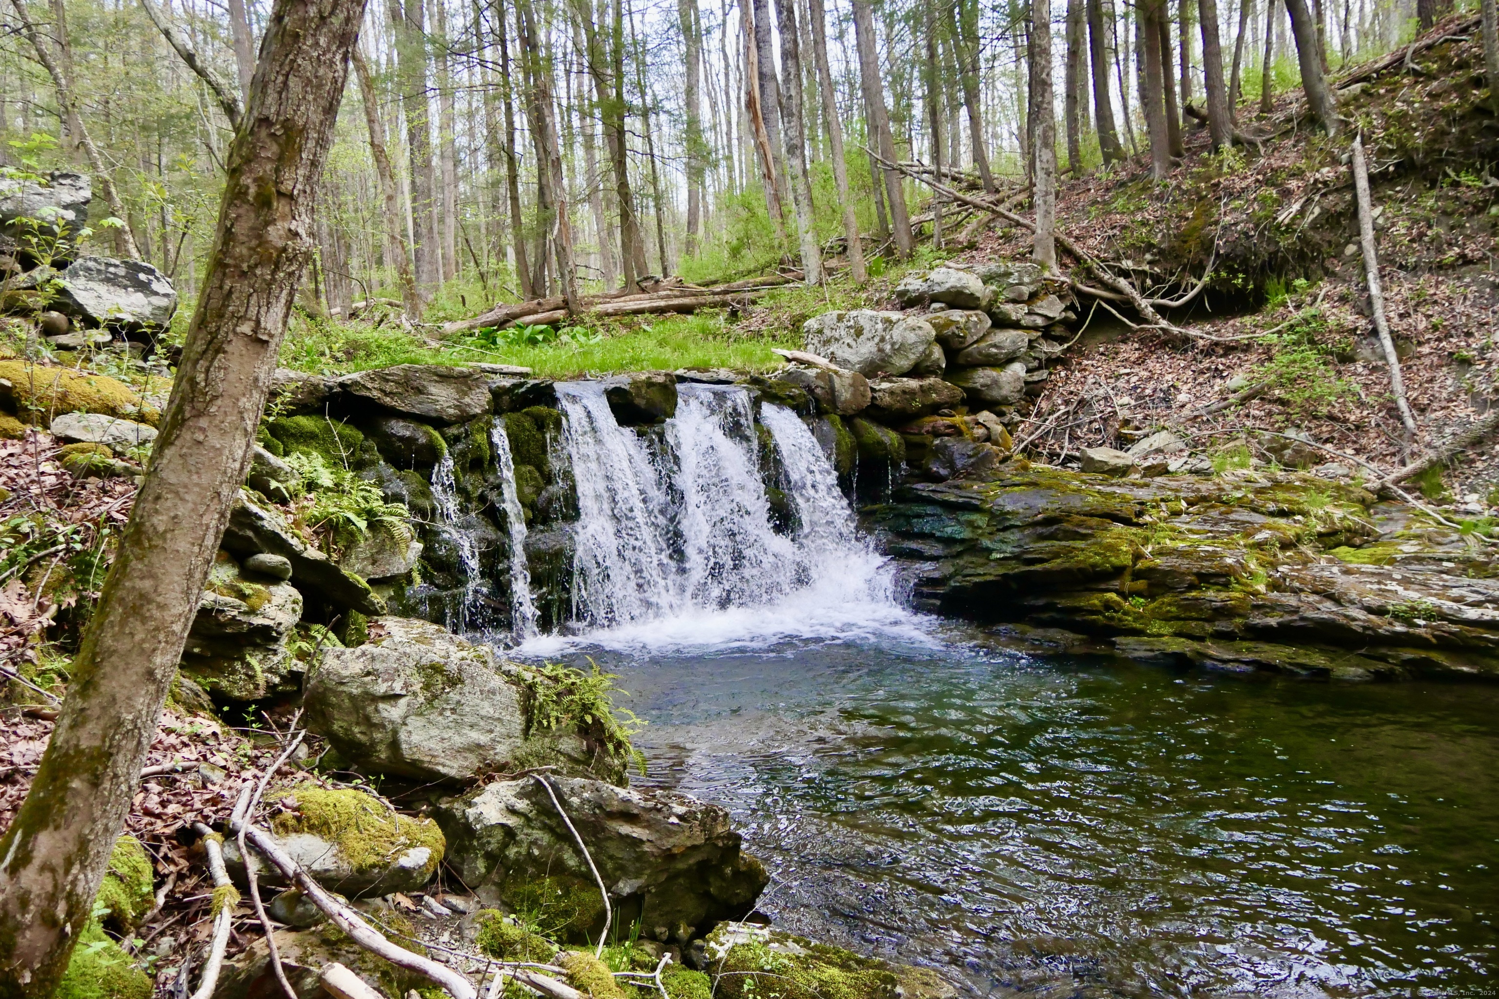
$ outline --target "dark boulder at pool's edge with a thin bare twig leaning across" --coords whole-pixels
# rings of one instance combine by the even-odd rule
[[[645,936],[685,944],[748,912],[766,885],[764,867],[741,852],[729,812],[717,804],[577,777],[547,783],[556,804],[535,777],[498,780],[439,804],[448,863],[486,902],[526,908],[538,884],[580,902],[598,897],[558,806],[588,845],[610,897],[640,900]]]

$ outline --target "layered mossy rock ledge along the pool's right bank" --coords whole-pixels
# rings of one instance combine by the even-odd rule
[[[1112,478],[1024,458],[865,517],[916,604],[1040,655],[1346,680],[1499,677],[1499,578],[1460,529],[1309,473]]]

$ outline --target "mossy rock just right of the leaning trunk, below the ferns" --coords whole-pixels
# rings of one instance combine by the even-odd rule
[[[198,599],[181,671],[226,701],[295,690],[300,664],[286,640],[301,620],[301,593],[274,577],[243,572],[217,553]]]

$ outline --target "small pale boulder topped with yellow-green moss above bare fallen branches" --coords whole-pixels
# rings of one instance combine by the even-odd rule
[[[300,783],[279,792],[283,806],[271,833],[292,860],[324,887],[349,897],[417,891],[442,863],[447,842],[432,819],[397,813],[388,801],[357,789]],[[243,878],[238,845],[225,843],[231,875]],[[261,884],[286,887],[276,869],[253,860]]]

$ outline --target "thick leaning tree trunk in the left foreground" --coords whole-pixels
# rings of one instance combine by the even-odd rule
[[[249,467],[363,12],[364,0],[271,10],[151,470],[57,728],[0,839],[0,995],[49,996],[93,911]]]

